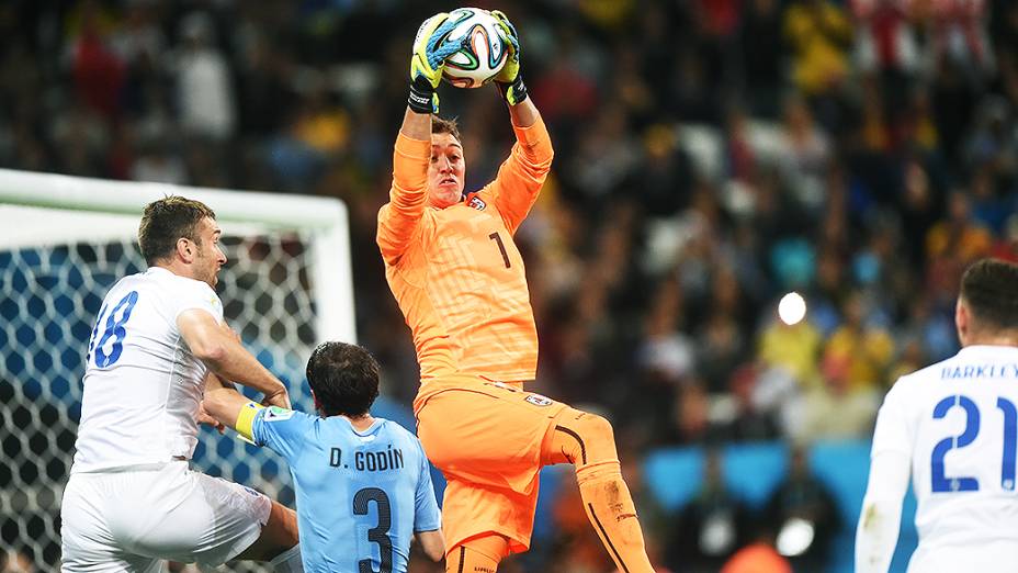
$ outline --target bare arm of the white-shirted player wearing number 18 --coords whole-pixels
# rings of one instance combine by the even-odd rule
[[[290,407],[286,386],[212,314],[196,308],[184,311],[177,317],[177,327],[194,357],[213,372],[263,393],[269,404]]]

